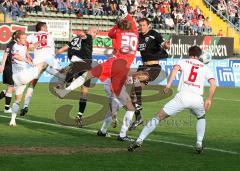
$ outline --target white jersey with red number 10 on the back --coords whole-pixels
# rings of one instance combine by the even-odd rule
[[[39,31],[27,37],[30,44],[41,42],[38,47],[34,49],[34,58],[51,58],[55,56],[55,43],[53,36],[44,31]]]

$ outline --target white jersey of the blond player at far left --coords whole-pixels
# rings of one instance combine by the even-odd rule
[[[27,68],[28,64],[25,61],[20,61],[14,58],[14,55],[20,55],[23,59],[26,59],[27,56],[27,46],[15,43],[12,48],[12,71],[13,73],[21,72]]]

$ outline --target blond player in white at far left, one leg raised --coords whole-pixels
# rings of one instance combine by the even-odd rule
[[[47,67],[46,62],[33,65],[32,58],[28,53],[27,35],[19,31],[16,33],[16,41],[12,48],[12,78],[16,94],[15,102],[12,105],[12,118],[10,126],[16,126],[16,117],[19,110],[19,104],[27,84],[37,79],[39,74]],[[51,74],[51,73],[50,73]]]

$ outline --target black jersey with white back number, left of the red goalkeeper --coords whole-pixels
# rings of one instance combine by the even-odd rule
[[[72,56],[77,56],[84,61],[92,61],[93,38],[89,34],[86,34],[86,36],[86,39],[75,37],[68,43],[68,58],[70,60],[72,59]]]

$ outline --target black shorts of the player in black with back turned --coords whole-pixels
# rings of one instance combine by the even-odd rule
[[[66,82],[70,83],[73,79],[81,76],[84,72],[91,69],[91,63],[89,62],[73,62],[66,68]],[[83,85],[90,87],[91,80],[89,79]]]

